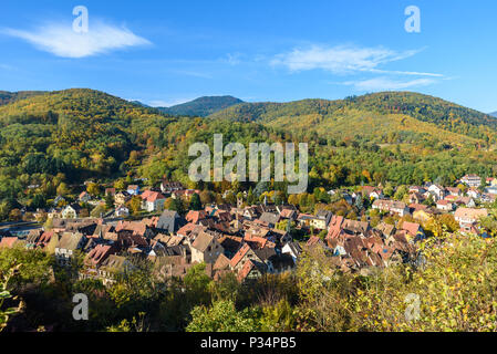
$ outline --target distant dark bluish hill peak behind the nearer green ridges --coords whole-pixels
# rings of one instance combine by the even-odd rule
[[[244,101],[232,96],[205,96],[172,107],[158,107],[161,112],[177,116],[205,117]]]

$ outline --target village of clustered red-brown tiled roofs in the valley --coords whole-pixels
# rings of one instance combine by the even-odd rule
[[[441,216],[456,223],[452,231],[489,237],[482,220],[489,217],[488,206],[496,200],[496,178],[466,175],[455,186],[411,186],[404,201],[385,197],[383,186],[360,189],[328,191],[339,194],[350,206],[370,201],[367,211],[353,219],[325,208],[301,212],[297,205],[276,204],[267,196],[255,205],[242,198],[236,205],[201,205],[200,190],[168,180],[156,189],[106,188],[105,200],[82,191],[63,208],[37,210],[48,216],[43,227],[19,233],[1,229],[0,249],[41,249],[52,253],[60,267],[70,267],[81,257],[77,277],[100,279],[104,285],[112,284],[116,274],[132,271],[136,259],[148,260],[164,279],[183,278],[195,264],[205,263],[214,280],[231,272],[246,282],[293,271],[306,248],[322,249],[344,272],[367,273],[398,262],[420,262],[418,242],[436,236],[426,226]],[[111,199],[111,211],[97,209]],[[169,210],[165,207],[170,199],[195,204],[195,210]],[[141,201],[146,217],[132,215],[131,200]],[[99,215],[82,212],[89,204]]]

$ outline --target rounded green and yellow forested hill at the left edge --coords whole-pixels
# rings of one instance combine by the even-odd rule
[[[22,175],[63,174],[75,183],[123,174],[130,154],[145,149],[176,121],[93,90],[50,92],[0,106],[0,195],[2,178],[15,184]]]

